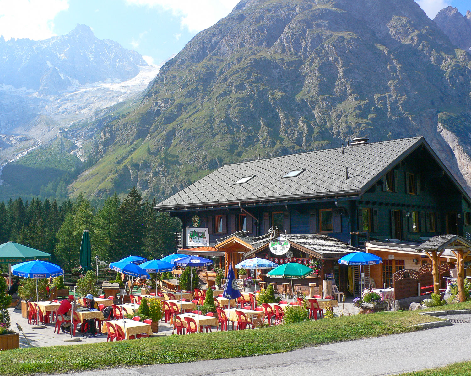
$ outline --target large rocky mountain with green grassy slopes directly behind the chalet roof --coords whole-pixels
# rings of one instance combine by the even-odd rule
[[[222,164],[359,135],[424,135],[465,183],[470,59],[414,0],[243,0],[104,126],[70,192],[163,198]]]

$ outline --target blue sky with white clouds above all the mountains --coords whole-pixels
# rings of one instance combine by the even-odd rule
[[[441,8],[464,15],[470,0],[416,0],[433,18]],[[46,39],[76,24],[113,39],[155,64],[178,53],[198,32],[226,16],[238,0],[0,0],[0,34]]]

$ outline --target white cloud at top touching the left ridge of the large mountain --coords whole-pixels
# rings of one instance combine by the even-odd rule
[[[182,28],[196,33],[227,16],[239,0],[126,0],[128,4],[161,8],[180,18]]]

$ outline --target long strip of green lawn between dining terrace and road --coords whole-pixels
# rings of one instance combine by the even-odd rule
[[[437,320],[422,316],[417,311],[382,312],[256,330],[10,350],[0,352],[0,374],[53,374],[121,365],[273,354],[333,342],[405,333],[417,330],[414,327],[416,324]]]

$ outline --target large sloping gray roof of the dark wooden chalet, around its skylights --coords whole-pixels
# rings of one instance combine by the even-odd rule
[[[336,148],[227,164],[157,204],[156,208],[355,196],[369,189],[382,174],[422,143],[430,149],[423,137],[413,137],[349,146],[344,154],[342,148]],[[348,167],[349,179],[345,178],[345,167]],[[281,178],[289,171],[304,168],[306,171],[297,177]],[[248,182],[234,184],[251,175],[255,177]]]

